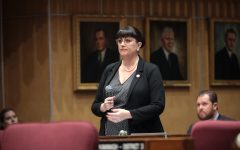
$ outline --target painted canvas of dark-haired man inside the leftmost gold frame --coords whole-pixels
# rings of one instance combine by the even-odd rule
[[[91,23],[83,23],[81,24],[81,30],[89,29],[91,25],[94,26]],[[83,32],[81,35],[82,83],[98,83],[106,66],[119,60],[119,53],[114,41],[114,35],[119,27],[116,24],[107,28],[109,25],[110,23],[98,23],[97,26],[92,27],[92,29],[94,28],[92,36],[89,36],[89,33],[86,34],[87,32]],[[93,39],[93,42],[89,42],[90,39]]]

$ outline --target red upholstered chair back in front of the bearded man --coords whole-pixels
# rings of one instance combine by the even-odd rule
[[[240,121],[199,121],[194,124],[192,137],[196,150],[229,150],[240,132]]]

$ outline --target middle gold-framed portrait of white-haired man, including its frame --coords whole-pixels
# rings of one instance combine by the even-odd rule
[[[188,19],[146,20],[147,59],[158,66],[165,86],[190,86]]]

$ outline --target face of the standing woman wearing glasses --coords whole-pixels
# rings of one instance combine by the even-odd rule
[[[116,42],[121,57],[137,55],[137,49],[141,47],[141,42],[137,42],[133,37],[118,38]]]

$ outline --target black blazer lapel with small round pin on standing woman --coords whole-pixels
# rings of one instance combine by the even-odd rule
[[[137,70],[136,70],[136,75],[134,76],[134,78],[132,80],[132,83],[130,85],[127,98],[130,97],[130,95],[131,95],[131,93],[132,93],[136,83],[139,81],[140,78],[142,78],[142,76],[143,76],[143,69],[144,69],[144,61],[139,56],[139,62],[138,62]]]

